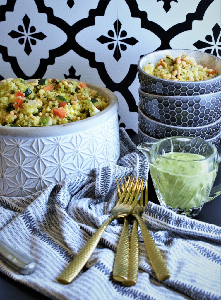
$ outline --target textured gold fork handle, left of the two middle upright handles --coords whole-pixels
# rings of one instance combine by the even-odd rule
[[[114,260],[113,278],[117,281],[127,280],[129,263],[129,228],[128,220],[124,218],[124,226],[118,243]]]

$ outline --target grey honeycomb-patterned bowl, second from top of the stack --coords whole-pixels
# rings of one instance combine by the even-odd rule
[[[139,88],[140,106],[146,116],[173,126],[202,126],[221,117],[221,91],[197,96],[148,94]]]

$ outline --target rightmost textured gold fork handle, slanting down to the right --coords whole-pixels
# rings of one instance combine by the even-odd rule
[[[152,238],[141,216],[139,214],[133,214],[133,215],[139,223],[145,248],[158,280],[168,279],[170,277],[170,273],[167,268],[166,261],[160,252],[160,249],[157,247],[154,239]]]

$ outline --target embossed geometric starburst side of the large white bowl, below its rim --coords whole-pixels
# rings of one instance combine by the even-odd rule
[[[0,137],[0,194],[25,196],[67,176],[92,175],[93,168],[117,163],[119,145],[118,113],[102,129],[51,138]]]

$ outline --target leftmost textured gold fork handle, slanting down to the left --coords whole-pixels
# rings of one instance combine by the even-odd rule
[[[58,281],[63,284],[70,283],[82,270],[97,244],[100,241],[100,238],[107,228],[107,226],[116,218],[124,217],[125,215],[114,215],[109,217],[94,234],[89,238],[84,247],[76,254],[72,262],[64,269],[61,275],[58,277]]]

